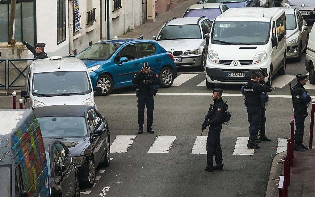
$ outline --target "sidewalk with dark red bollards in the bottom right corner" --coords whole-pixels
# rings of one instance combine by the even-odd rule
[[[283,159],[287,152],[279,153],[272,161],[266,196],[279,196],[278,179],[283,175]],[[305,152],[294,152],[294,164],[291,167],[291,184],[288,197],[314,197],[315,147]]]

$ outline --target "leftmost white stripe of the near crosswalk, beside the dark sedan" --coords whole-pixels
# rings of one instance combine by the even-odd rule
[[[116,136],[111,145],[111,153],[126,153],[136,136]]]

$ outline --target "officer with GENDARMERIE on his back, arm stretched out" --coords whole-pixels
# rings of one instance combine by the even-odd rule
[[[253,72],[251,79],[244,85],[245,106],[249,121],[249,140],[247,148],[260,148],[255,142],[261,123],[261,101],[259,96],[262,92],[270,92],[272,88],[259,83],[261,74]]]

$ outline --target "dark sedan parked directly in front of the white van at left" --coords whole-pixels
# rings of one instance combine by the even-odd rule
[[[107,120],[94,107],[55,105],[34,109],[44,138],[58,138],[69,148],[84,187],[92,187],[96,168],[110,164]]]

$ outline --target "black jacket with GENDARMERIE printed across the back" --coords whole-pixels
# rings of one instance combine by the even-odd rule
[[[259,95],[262,92],[270,91],[271,89],[269,86],[262,85],[253,80],[249,80],[249,82],[247,82],[247,84],[244,85],[245,105],[261,106]]]

